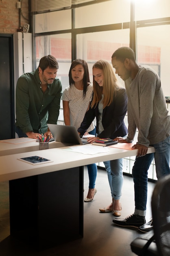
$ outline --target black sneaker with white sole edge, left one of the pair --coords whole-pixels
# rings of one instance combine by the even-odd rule
[[[115,223],[118,226],[121,227],[135,227],[138,228],[146,223],[145,217],[131,214],[127,216],[125,219],[118,219],[115,218],[113,220],[113,223]]]

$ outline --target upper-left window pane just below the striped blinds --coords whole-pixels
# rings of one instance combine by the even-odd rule
[[[71,10],[54,11],[34,15],[35,33],[71,29]]]

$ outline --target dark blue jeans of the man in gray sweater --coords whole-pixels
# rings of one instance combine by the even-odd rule
[[[170,137],[158,144],[150,145],[155,148],[155,153],[136,157],[132,168],[135,189],[135,214],[146,215],[146,202],[148,192],[148,169],[155,158],[157,179],[170,173]]]

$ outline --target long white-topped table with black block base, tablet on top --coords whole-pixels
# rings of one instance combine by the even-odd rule
[[[37,142],[28,143],[29,149],[38,147]],[[54,144],[50,142],[50,147]],[[83,237],[84,165],[137,153],[110,147],[108,153],[96,155],[74,153],[64,147],[27,152],[26,144],[18,145],[6,145],[5,153],[13,155],[0,156],[0,181],[9,180],[11,236],[23,238],[38,249]],[[25,153],[15,154],[21,149]],[[2,148],[0,151],[2,155]],[[154,151],[148,149],[148,153]],[[33,155],[53,162],[34,166],[17,159]]]

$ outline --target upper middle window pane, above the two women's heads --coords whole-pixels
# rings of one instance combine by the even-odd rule
[[[75,9],[75,27],[92,27],[130,21],[130,1],[106,1]]]

